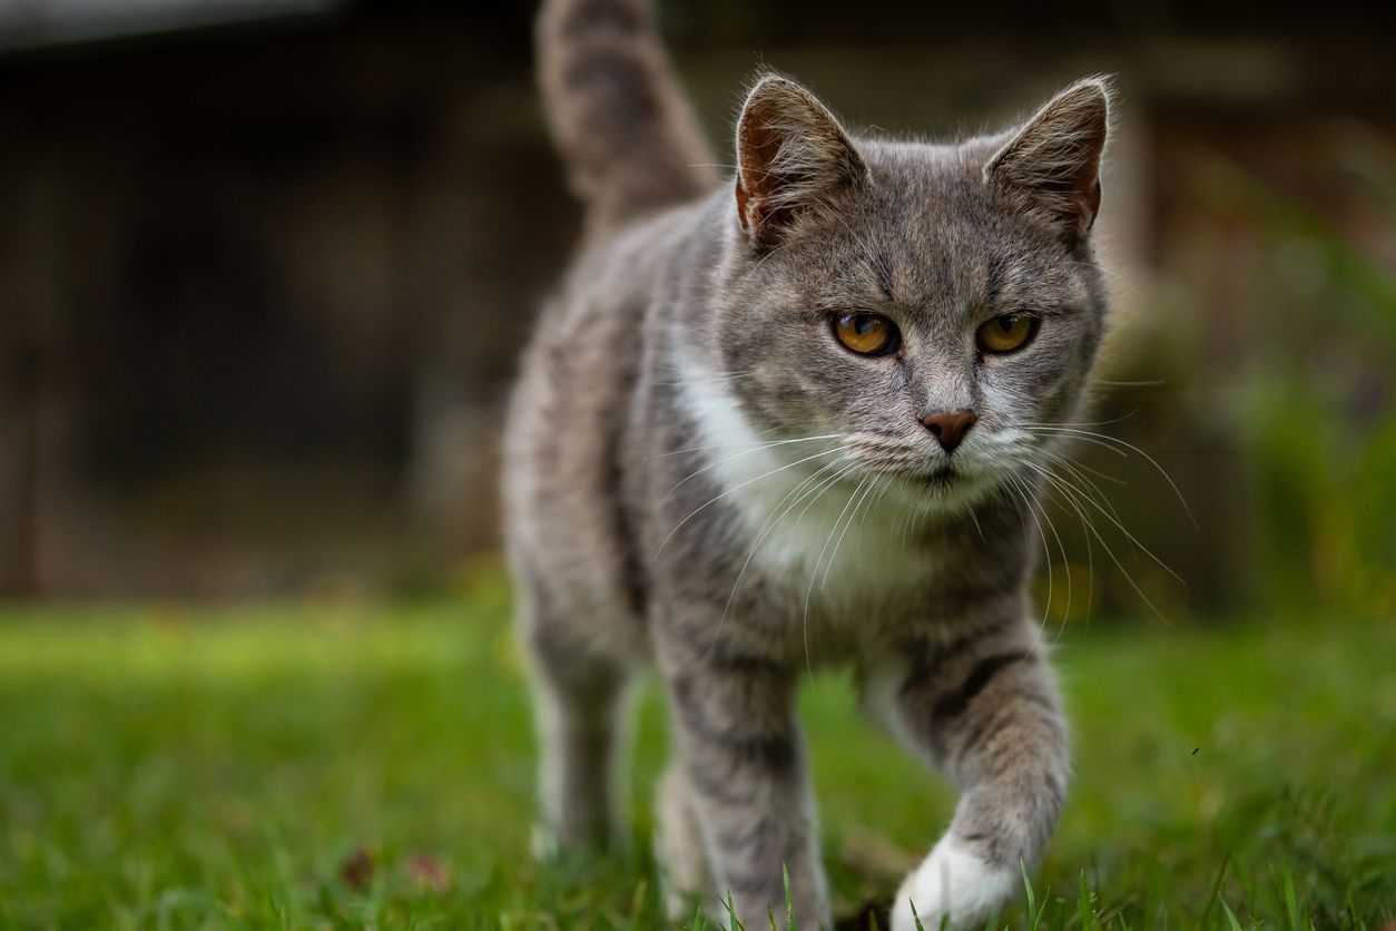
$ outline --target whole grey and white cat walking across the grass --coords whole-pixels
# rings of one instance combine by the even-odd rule
[[[1061,812],[1068,736],[1026,593],[1054,424],[1101,338],[1110,91],[956,144],[853,134],[761,77],[720,181],[639,0],[550,0],[547,116],[586,237],[505,438],[543,849],[617,835],[627,684],[658,669],[676,917],[727,892],[829,925],[796,687],[863,703],[962,796],[892,928],[981,923]],[[868,761],[875,766],[877,761]]]

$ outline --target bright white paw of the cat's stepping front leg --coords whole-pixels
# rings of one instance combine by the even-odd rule
[[[940,928],[945,916],[952,928],[980,927],[1020,891],[1016,871],[988,865],[948,835],[898,891],[892,931],[916,931],[916,917],[926,931]]]

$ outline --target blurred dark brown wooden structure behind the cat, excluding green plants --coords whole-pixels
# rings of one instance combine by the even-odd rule
[[[1170,205],[1199,151],[1322,193],[1343,166],[1295,174],[1291,142],[1396,138],[1392,8],[790,10],[663,6],[719,152],[759,63],[854,123],[927,134],[1117,73],[1106,239],[1145,317],[1156,282],[1191,274],[1177,261],[1196,230]],[[410,585],[493,543],[512,359],[577,233],[529,17],[324,4],[0,57],[0,592]],[[1216,476],[1244,479],[1226,437],[1173,423],[1189,403],[1148,398],[1142,429],[1195,509],[1230,515],[1206,547],[1159,532],[1199,581],[1185,597],[1217,606],[1241,596],[1252,542],[1245,496]]]

